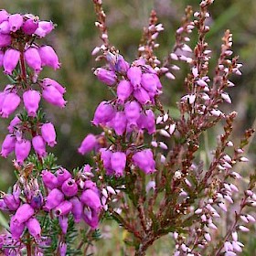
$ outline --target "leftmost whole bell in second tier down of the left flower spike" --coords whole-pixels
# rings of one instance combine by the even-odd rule
[[[13,70],[16,68],[19,57],[20,57],[20,52],[14,48],[8,48],[5,51],[5,56],[4,56],[4,61],[3,61],[5,74],[7,74],[7,75],[12,74]]]

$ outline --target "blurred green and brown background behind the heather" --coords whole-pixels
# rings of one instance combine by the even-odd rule
[[[174,44],[175,31],[180,24],[185,6],[192,5],[197,10],[199,2],[199,0],[105,0],[103,4],[108,16],[110,40],[116,48],[120,49],[125,59],[132,61],[136,56],[141,32],[147,24],[150,10],[155,8],[159,22],[165,27],[164,33],[159,36],[161,47],[157,52],[159,59],[163,59]],[[58,144],[52,152],[58,156],[59,165],[69,169],[90,161],[89,158],[80,156],[77,148],[87,133],[101,132],[91,126],[91,119],[97,104],[104,99],[110,99],[107,88],[96,80],[91,72],[91,69],[98,65],[91,57],[91,50],[101,44],[99,32],[94,27],[92,1],[2,0],[0,8],[6,9],[9,13],[32,13],[42,20],[52,20],[58,25],[48,37],[42,40],[42,43],[50,44],[56,49],[62,69],[54,72],[46,68],[41,78],[50,77],[63,84],[67,88],[66,99],[69,101],[64,110],[44,104],[48,120],[55,123],[58,132]],[[209,48],[213,49],[211,74],[218,58],[221,37],[227,28],[233,33],[234,52],[240,56],[240,62],[244,64],[241,69],[243,75],[234,76],[231,79],[237,84],[237,87],[229,90],[233,104],[222,106],[222,109],[227,112],[232,110],[239,112],[233,134],[233,139],[236,141],[245,128],[255,126],[256,1],[216,0],[210,7],[210,13],[208,22],[211,32],[208,34],[208,44]],[[194,48],[196,36],[196,34],[192,35],[191,44],[189,44],[192,48]],[[185,93],[183,80],[186,71],[185,66],[184,69],[176,72],[176,80],[163,80],[165,85],[163,101],[166,109],[170,109],[171,115],[174,116],[176,101]],[[1,90],[6,82],[4,75],[0,74]],[[0,123],[0,140],[3,141],[7,133],[8,121],[1,120]],[[210,137],[214,139],[214,136]],[[249,150],[251,165],[255,164],[255,150],[256,144],[253,140]],[[1,190],[5,190],[13,182],[11,166],[11,157],[1,159]]]

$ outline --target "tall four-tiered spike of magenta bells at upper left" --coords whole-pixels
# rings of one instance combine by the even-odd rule
[[[10,15],[0,11],[0,67],[12,80],[0,92],[0,115],[8,118],[23,101],[26,114],[17,114],[11,121],[2,144],[1,155],[6,157],[15,151],[16,162],[23,164],[29,155],[31,142],[39,157],[47,155],[46,144],[56,144],[52,123],[45,123],[39,114],[39,102],[43,97],[49,103],[63,108],[65,88],[56,80],[38,79],[44,66],[59,69],[59,58],[50,46],[39,46],[37,38],[46,37],[54,25],[33,15]],[[21,100],[22,99],[22,100]]]

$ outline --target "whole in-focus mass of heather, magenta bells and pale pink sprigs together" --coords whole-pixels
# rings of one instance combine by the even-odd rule
[[[221,111],[231,103],[227,89],[234,86],[232,76],[241,75],[229,30],[214,75],[209,74],[212,53],[206,38],[213,0],[201,1],[196,12],[187,6],[176,43],[163,61],[157,58],[156,40],[164,26],[152,11],[132,63],[112,46],[101,1],[93,4],[101,32],[101,45],[92,50],[100,63],[93,73],[112,99],[100,102],[91,121],[101,133],[87,134],[78,148],[81,155],[91,153],[92,165],[72,171],[48,153],[57,136],[40,107],[41,97],[59,108],[67,103],[58,81],[40,78],[43,68],[61,66],[55,50],[40,42],[55,25],[0,11],[0,65],[10,80],[0,92],[0,115],[12,118],[1,155],[15,153],[16,174],[13,187],[1,193],[0,208],[9,215],[1,251],[87,255],[91,243],[101,238],[100,221],[108,219],[129,233],[125,243],[135,255],[145,255],[166,235],[175,256],[240,254],[241,233],[256,221],[256,176],[252,173],[244,187],[236,165],[249,161],[244,150],[254,131],[246,130],[235,144],[231,133],[237,112]],[[195,47],[189,46],[194,31]],[[167,90],[162,83],[176,82],[182,62],[189,71],[176,104],[179,114],[173,117],[161,102]],[[223,131],[217,146],[202,161],[202,137],[218,123]],[[224,219],[227,227],[222,227]]]

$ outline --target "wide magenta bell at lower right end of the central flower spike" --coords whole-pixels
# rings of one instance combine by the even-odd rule
[[[150,149],[144,149],[133,155],[133,164],[137,165],[145,174],[155,172],[154,155]]]

